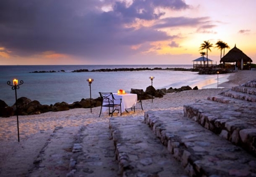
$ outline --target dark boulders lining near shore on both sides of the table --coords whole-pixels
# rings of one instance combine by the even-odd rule
[[[190,91],[190,90],[198,90],[198,87],[194,87],[193,89],[190,86],[182,86],[179,89],[173,89],[170,87],[169,89],[158,89],[156,90],[152,85],[146,87],[145,92],[142,91],[141,99],[153,99],[153,98],[162,98],[167,93],[178,93],[182,91]],[[140,93],[135,93],[140,94]],[[93,99],[92,98],[92,107],[97,107],[101,105],[100,97]],[[91,107],[91,100],[90,98],[81,99],[81,101],[75,101],[71,104],[66,102],[57,102],[55,104],[42,105],[37,100],[30,100],[26,97],[20,97],[17,99],[17,108],[18,108],[18,115],[36,115],[46,112],[58,112],[63,110],[69,110],[73,108],[90,108]],[[0,100],[0,117],[10,117],[16,115],[16,103],[12,106],[8,106],[5,101]]]

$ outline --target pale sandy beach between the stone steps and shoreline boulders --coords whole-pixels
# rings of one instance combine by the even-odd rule
[[[224,90],[230,89],[256,79],[256,71],[238,71],[230,74],[227,82],[221,83],[224,89],[202,89],[195,91],[183,91],[180,93],[166,94],[163,98],[153,100],[143,100],[144,110],[137,109],[136,112],[124,112],[122,117],[143,117],[147,110],[180,110],[183,112],[185,103],[195,102],[199,99],[206,99],[208,96],[218,95]],[[63,112],[48,112],[40,115],[19,116],[19,134],[20,142],[17,141],[17,122],[16,116],[10,118],[0,118],[0,171],[4,170],[3,166],[9,164],[19,166],[20,161],[26,157],[15,157],[18,150],[23,150],[24,154],[30,154],[31,158],[38,154],[38,151],[45,143],[45,140],[53,132],[55,127],[77,127],[88,125],[96,122],[109,122],[108,114],[102,114],[99,117],[100,107],[90,109],[76,108]],[[117,114],[113,115],[114,117]],[[119,115],[118,115],[119,116]],[[17,158],[16,161],[13,158]],[[24,159],[23,159],[24,158]],[[29,163],[29,162],[28,162]],[[22,168],[22,166],[19,166]],[[1,173],[0,173],[1,176]]]

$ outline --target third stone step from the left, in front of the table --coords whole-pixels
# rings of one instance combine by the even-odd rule
[[[186,176],[160,140],[143,123],[143,117],[115,117],[110,129],[121,176]]]

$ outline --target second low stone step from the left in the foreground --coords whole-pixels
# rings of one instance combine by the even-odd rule
[[[82,126],[75,137],[69,176],[120,176],[108,122]]]

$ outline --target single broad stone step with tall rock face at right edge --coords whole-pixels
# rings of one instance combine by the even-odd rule
[[[256,103],[221,104],[200,100],[184,105],[184,115],[256,156]]]

